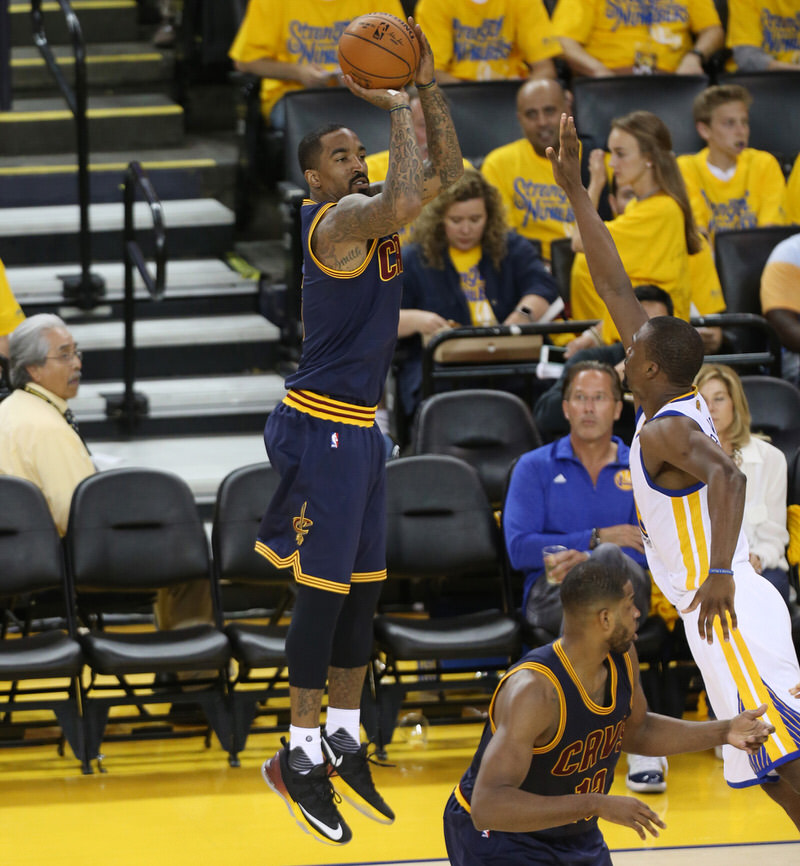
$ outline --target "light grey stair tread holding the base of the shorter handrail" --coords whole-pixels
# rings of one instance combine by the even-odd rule
[[[138,379],[134,387],[147,397],[152,418],[263,412],[266,419],[286,393],[283,377],[277,373]],[[123,390],[119,381],[83,382],[70,407],[79,421],[103,420],[106,396]]]

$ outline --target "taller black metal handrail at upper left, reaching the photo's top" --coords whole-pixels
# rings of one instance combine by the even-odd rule
[[[70,87],[61,67],[47,41],[44,26],[42,0],[31,0],[33,42],[44,58],[47,68],[56,80],[69,110],[75,118],[76,146],[78,156],[78,207],[80,209],[80,234],[78,239],[81,272],[77,277],[64,278],[64,298],[76,303],[81,309],[92,309],[105,293],[105,283],[97,274],[90,272],[92,260],[91,229],[89,227],[89,121],[86,115],[86,42],[78,16],[68,0],[57,0],[66,19],[67,30],[72,39],[75,56],[75,88]]]

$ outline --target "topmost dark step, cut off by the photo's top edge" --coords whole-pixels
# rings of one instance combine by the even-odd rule
[[[70,4],[78,16],[84,41],[125,42],[135,39],[136,0],[72,0]],[[9,4],[11,44],[32,45],[31,4],[25,0],[12,0]],[[66,19],[58,3],[42,3],[47,39],[51,45],[71,44]]]

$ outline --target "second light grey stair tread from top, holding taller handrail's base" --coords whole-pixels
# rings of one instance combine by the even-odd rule
[[[151,273],[155,271],[152,262],[148,263]],[[14,287],[14,295],[20,304],[57,303],[62,298],[62,278],[76,274],[76,265],[43,265],[27,268],[6,268],[9,285]],[[102,277],[106,285],[105,300],[115,301],[124,293],[125,273],[122,264],[116,262],[92,265],[92,273]],[[254,292],[256,282],[246,279],[231,270],[219,259],[175,260],[167,263],[166,296],[209,297],[221,292]],[[137,298],[149,297],[138,271],[134,271],[134,295]]]

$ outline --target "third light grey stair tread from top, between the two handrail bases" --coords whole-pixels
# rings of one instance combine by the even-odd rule
[[[120,349],[124,344],[124,324],[121,321],[73,323],[70,324],[70,331],[84,351]],[[275,342],[280,336],[278,328],[258,313],[140,319],[136,322],[134,333],[138,350],[164,346],[213,346],[231,342],[265,343]]]

